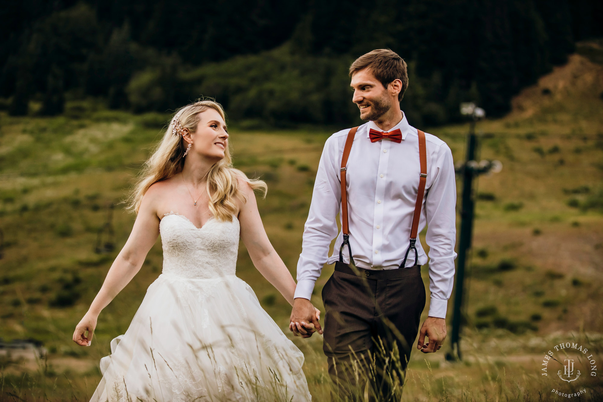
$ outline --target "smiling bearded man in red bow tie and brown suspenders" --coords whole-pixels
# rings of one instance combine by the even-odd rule
[[[302,337],[323,332],[310,298],[323,265],[335,263],[322,291],[333,394],[363,400],[368,380],[371,400],[393,401],[400,398],[425,308],[420,267],[428,257],[417,233],[426,225],[431,301],[417,349],[436,352],[446,338],[456,258],[455,171],[446,143],[410,126],[400,110],[408,75],[398,54],[364,54],[350,76],[352,101],[368,123],[335,133],[324,145],[289,328]]]

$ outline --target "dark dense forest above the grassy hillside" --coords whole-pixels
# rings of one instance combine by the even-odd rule
[[[347,68],[391,48],[409,65],[415,126],[459,119],[460,101],[508,111],[575,43],[603,36],[600,0],[8,0],[0,97],[11,115],[95,98],[165,112],[200,95],[248,124],[350,123]]]

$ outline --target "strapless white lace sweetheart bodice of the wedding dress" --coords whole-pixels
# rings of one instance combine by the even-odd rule
[[[235,275],[239,250],[239,220],[210,218],[197,228],[187,217],[169,212],[159,223],[163,273],[210,279]]]

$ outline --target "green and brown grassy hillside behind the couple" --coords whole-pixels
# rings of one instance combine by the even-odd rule
[[[552,345],[579,340],[596,359],[603,357],[602,93],[601,65],[572,56],[514,99],[506,118],[478,123],[480,158],[499,159],[504,168],[476,183],[461,343],[466,359],[444,360],[449,339],[439,353],[414,353],[404,400],[535,400],[539,391],[549,400],[555,387],[538,371]],[[0,113],[0,337],[36,339],[48,350],[41,362],[0,350],[0,400],[83,400],[95,389],[110,339],[124,333],[161,271],[159,239],[139,274],[101,313],[92,346],[75,345],[72,332],[127,240],[134,217],[119,200],[167,118],[95,110],[93,103],[69,104],[57,118]],[[421,128],[446,141],[455,162],[463,161],[468,126]],[[315,169],[330,133],[232,130],[236,167],[268,183],[260,213],[294,275]],[[460,193],[461,182],[457,188]],[[114,247],[97,254],[108,215],[113,235],[106,228],[100,244]],[[424,234],[421,241],[425,245]],[[327,266],[317,283],[319,308],[331,272]],[[285,329],[290,307],[257,273],[244,246],[238,274]],[[450,320],[452,300],[449,306]],[[315,400],[328,400],[320,337],[293,339],[306,354]],[[600,375],[584,381],[581,387],[601,395]]]

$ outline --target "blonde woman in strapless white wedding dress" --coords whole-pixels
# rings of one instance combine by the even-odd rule
[[[101,359],[92,401],[309,401],[303,354],[235,276],[239,234],[292,304],[295,282],[270,244],[253,190],[232,167],[222,107],[178,110],[130,197],[136,222],[73,340],[90,346],[98,314],[161,235],[163,271]],[[308,328],[322,333],[316,320]]]

